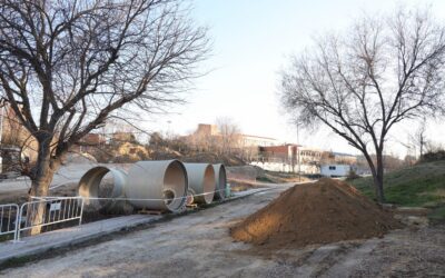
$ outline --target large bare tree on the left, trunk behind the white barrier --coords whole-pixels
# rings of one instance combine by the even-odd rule
[[[119,110],[179,102],[206,33],[175,0],[1,0],[1,93],[39,143],[30,195],[47,196],[70,147]]]

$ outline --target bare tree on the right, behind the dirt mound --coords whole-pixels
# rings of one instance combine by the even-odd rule
[[[294,58],[281,75],[283,103],[296,120],[322,122],[363,152],[384,202],[388,132],[443,111],[444,62],[445,28],[429,11],[364,17],[346,34],[318,39]]]

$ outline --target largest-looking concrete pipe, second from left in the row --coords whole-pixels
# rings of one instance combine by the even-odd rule
[[[137,208],[180,211],[187,201],[187,171],[179,160],[139,161],[128,171],[126,195]]]

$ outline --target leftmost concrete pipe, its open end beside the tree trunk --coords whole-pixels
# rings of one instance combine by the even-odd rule
[[[111,173],[113,182],[101,183],[106,175]],[[85,197],[85,209],[93,211],[99,209],[120,210],[123,201],[99,200],[95,198],[121,198],[125,197],[125,187],[127,185],[127,175],[119,169],[98,166],[89,169],[81,178],[78,185],[78,196]],[[89,199],[92,198],[92,199]]]

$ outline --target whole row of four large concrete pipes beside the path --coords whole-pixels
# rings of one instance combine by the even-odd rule
[[[107,190],[107,196],[99,196],[100,182],[108,172],[113,176],[112,190]],[[80,179],[78,193],[86,197],[87,210],[119,211],[131,203],[137,209],[177,212],[190,202],[210,203],[214,198],[224,200],[225,188],[224,165],[154,160],[134,163],[128,173],[120,169],[95,167]]]

